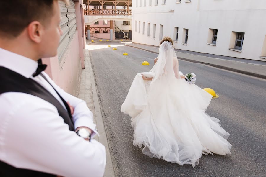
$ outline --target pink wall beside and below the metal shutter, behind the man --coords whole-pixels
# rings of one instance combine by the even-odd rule
[[[82,1],[75,2],[77,31],[59,63],[58,57],[43,58],[45,72],[67,93],[77,96],[80,73],[84,68],[85,30]]]

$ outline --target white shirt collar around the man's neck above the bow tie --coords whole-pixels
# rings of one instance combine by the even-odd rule
[[[0,66],[30,78],[38,68],[38,62],[0,48]]]

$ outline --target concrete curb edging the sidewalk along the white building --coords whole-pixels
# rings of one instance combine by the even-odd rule
[[[137,49],[145,50],[145,51],[148,51],[148,52],[151,52],[151,53],[159,54],[158,52],[151,51],[151,50],[147,50],[147,49],[143,49],[143,48],[136,47],[136,46],[132,46],[132,45],[129,45],[129,44],[125,44],[125,45],[126,46],[129,46],[129,47],[134,47],[134,48],[137,48]],[[226,66],[222,66],[222,65],[215,65],[215,64],[212,64],[212,63],[200,62],[200,61],[190,60],[190,59],[186,59],[186,58],[178,58],[178,59],[184,60],[184,61],[193,62],[193,63],[200,63],[200,64],[204,64],[204,65],[209,65],[209,66],[213,66],[215,68],[225,69],[225,70],[233,71],[233,72],[236,72],[236,73],[241,73],[241,74],[246,74],[246,75],[249,75],[249,76],[254,76],[254,77],[266,79],[266,76],[265,75],[251,73],[251,72],[248,72],[248,71],[243,71],[243,70],[239,70],[239,69],[235,69],[235,68],[230,68],[230,67],[226,67]]]

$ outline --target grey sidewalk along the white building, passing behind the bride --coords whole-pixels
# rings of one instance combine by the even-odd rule
[[[146,50],[152,53],[159,53],[158,46],[143,45],[138,43],[125,44],[130,47]],[[183,53],[176,50],[176,55],[180,60],[186,60],[194,63],[202,63],[205,65],[210,65],[216,68],[225,69],[229,71],[234,71],[258,78],[266,79],[266,62],[265,65],[245,63],[235,60],[226,60],[221,58],[207,57],[203,55],[195,55],[191,53]]]

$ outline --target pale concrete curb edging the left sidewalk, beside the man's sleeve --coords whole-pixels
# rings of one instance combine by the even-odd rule
[[[98,133],[100,135],[99,142],[102,143],[106,149],[106,166],[105,166],[104,177],[116,177],[114,167],[113,167],[113,161],[112,161],[112,157],[111,157],[111,151],[109,148],[106,130],[105,130],[104,122],[103,122],[103,115],[102,115],[102,110],[101,110],[101,106],[100,106],[100,101],[99,101],[98,93],[96,90],[94,73],[93,73],[93,69],[91,66],[90,51],[88,51],[88,52],[89,52],[89,56],[88,56],[89,62],[88,63],[89,63],[89,69],[90,69],[90,73],[91,73],[90,78],[91,78],[91,85],[92,85],[95,117],[96,117],[96,122],[97,122]]]

